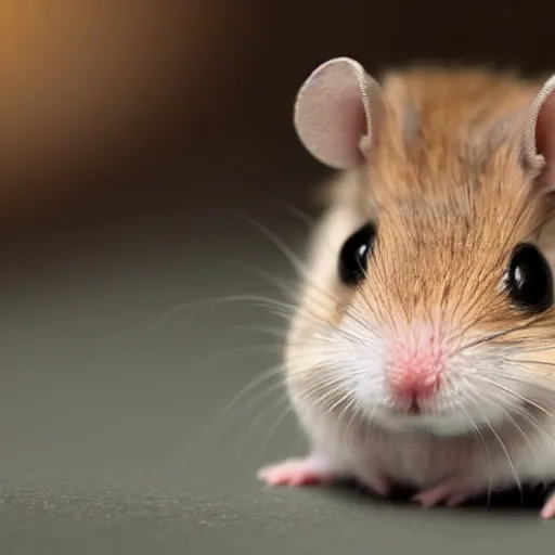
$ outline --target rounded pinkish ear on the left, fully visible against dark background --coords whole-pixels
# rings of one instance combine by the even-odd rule
[[[379,86],[349,57],[320,65],[300,88],[295,128],[300,142],[318,160],[347,169],[364,158],[373,133]]]

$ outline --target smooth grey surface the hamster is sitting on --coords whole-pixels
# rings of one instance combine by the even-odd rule
[[[305,225],[247,206],[250,193],[235,207],[298,244]],[[279,336],[245,326],[283,322],[228,304],[156,324],[198,298],[281,298],[253,267],[292,275],[261,233],[207,201],[22,242],[1,263],[2,555],[552,551],[555,522],[535,511],[261,488],[259,464],[304,447],[293,420],[275,426],[282,391],[223,408],[279,362]]]

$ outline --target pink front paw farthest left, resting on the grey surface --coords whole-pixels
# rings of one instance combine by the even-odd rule
[[[337,474],[323,461],[308,456],[287,459],[281,463],[264,466],[258,472],[258,478],[267,486],[318,486],[335,481]]]

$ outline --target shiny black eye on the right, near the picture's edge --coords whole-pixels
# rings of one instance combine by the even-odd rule
[[[543,255],[531,244],[518,245],[508,267],[507,291],[513,304],[543,312],[553,304],[553,275]]]

